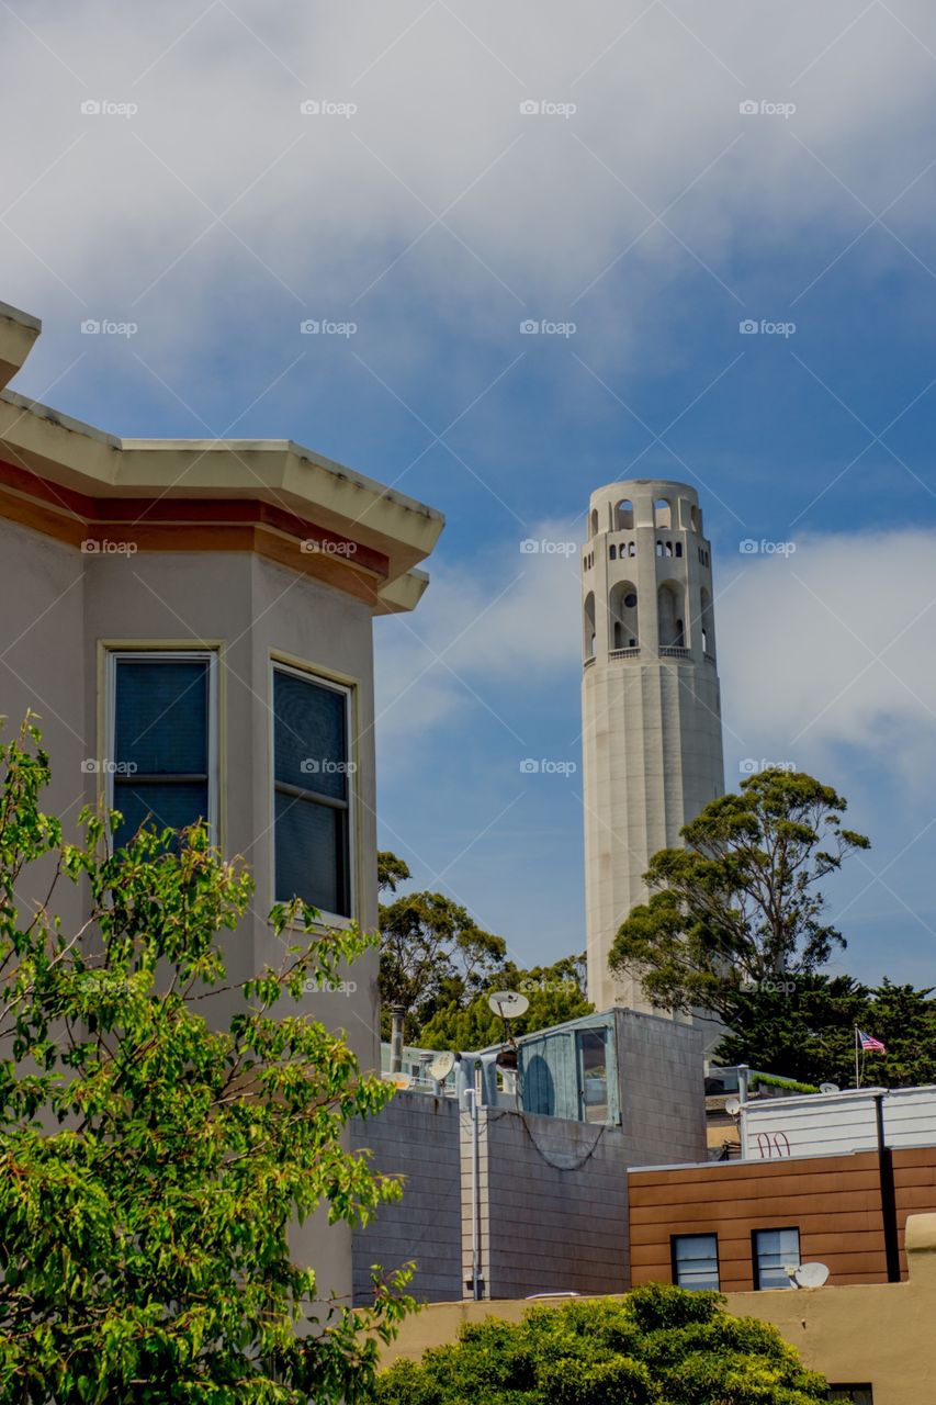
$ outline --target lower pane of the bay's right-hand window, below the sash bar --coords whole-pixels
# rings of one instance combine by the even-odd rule
[[[350,917],[346,860],[347,811],[275,797],[277,902],[302,898]]]

